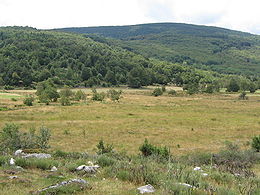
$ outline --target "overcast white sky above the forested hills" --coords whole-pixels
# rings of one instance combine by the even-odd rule
[[[260,0],[0,0],[0,26],[182,22],[260,34]]]

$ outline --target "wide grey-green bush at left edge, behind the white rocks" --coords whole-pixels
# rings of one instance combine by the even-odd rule
[[[35,129],[28,132],[20,132],[16,124],[6,124],[0,134],[0,150],[2,152],[13,152],[18,149],[47,149],[50,139],[50,130],[40,127],[39,135],[35,134]]]

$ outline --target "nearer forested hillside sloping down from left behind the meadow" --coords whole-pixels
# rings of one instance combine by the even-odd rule
[[[83,35],[26,27],[0,28],[0,86],[140,87],[154,83],[212,83],[220,75],[144,58]]]

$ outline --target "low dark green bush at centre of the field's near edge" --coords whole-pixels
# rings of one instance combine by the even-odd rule
[[[146,157],[151,155],[160,156],[166,159],[170,157],[170,150],[166,146],[154,146],[148,143],[147,139],[144,140],[144,143],[140,146],[139,150],[142,152],[142,155]]]

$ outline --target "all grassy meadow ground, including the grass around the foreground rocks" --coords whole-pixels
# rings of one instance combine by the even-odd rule
[[[122,87],[120,88],[123,91],[122,98],[118,102],[109,99],[103,102],[93,101],[91,89],[81,89],[87,94],[87,100],[74,102],[71,106],[61,106],[58,102],[45,105],[37,101],[33,106],[25,106],[24,97],[33,95],[34,90],[1,91],[0,108],[5,109],[0,111],[0,129],[6,123],[18,124],[24,131],[46,126],[51,130],[51,148],[48,152],[55,154],[57,150],[61,150],[71,154],[74,152],[90,154],[87,159],[74,159],[61,153],[60,156],[55,156],[54,159],[46,160],[44,163],[31,162],[26,165],[31,168],[16,172],[18,179],[14,180],[7,179],[8,170],[13,168],[4,163],[1,165],[1,162],[7,162],[10,156],[0,156],[1,194],[28,194],[36,189],[75,177],[85,178],[91,186],[76,194],[134,195],[137,194],[136,188],[145,183],[156,186],[154,194],[209,194],[212,186],[217,189],[213,189],[212,194],[238,192],[246,194],[258,188],[259,163],[251,169],[255,174],[253,178],[238,178],[205,164],[203,169],[210,176],[204,178],[200,173],[193,171],[194,166],[200,164],[187,166],[179,162],[169,162],[165,167],[164,161],[139,159],[136,155],[140,154],[139,147],[145,138],[156,146],[169,147],[173,157],[217,153],[223,149],[227,141],[238,144],[242,149],[250,148],[252,137],[259,135],[260,130],[259,91],[248,94],[248,100],[239,100],[239,93],[187,95],[181,88],[176,87],[166,87],[167,90],[176,90],[175,96],[165,93],[154,97],[151,96],[153,88]],[[73,89],[76,90],[79,89]],[[97,90],[105,92],[108,89]],[[122,153],[122,156],[95,156],[96,145],[101,139],[105,143],[113,144],[114,150]],[[132,157],[124,157],[125,155]],[[132,158],[132,164],[129,158]],[[101,165],[102,169],[96,176],[68,171],[71,167],[75,168],[88,160]],[[46,168],[39,168],[43,166],[42,163],[44,167],[49,166],[48,169],[52,165],[57,166],[58,172],[46,172]],[[140,175],[131,176],[132,172],[140,171],[140,164],[147,166],[146,172],[152,174],[147,176],[148,179],[143,179]],[[19,165],[26,167],[21,162]],[[171,171],[175,173],[176,170],[181,170],[182,173],[175,175],[183,175],[179,178],[177,176],[168,178],[164,175]],[[163,182],[160,178],[164,178]],[[196,186],[196,189],[181,189],[183,190],[181,191],[176,182],[190,183]],[[238,187],[238,184],[241,185]]]

